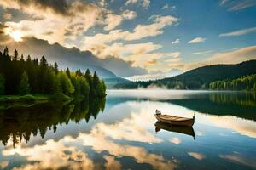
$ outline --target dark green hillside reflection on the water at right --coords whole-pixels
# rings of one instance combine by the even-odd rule
[[[232,115],[256,121],[255,93],[211,93],[201,97],[172,99],[170,103],[212,115]]]

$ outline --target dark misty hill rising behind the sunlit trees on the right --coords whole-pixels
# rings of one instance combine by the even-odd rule
[[[168,77],[148,82],[119,83],[115,88],[147,88],[156,85],[176,89],[201,89],[208,88],[210,82],[256,74],[256,60],[249,60],[236,65],[208,65],[186,71],[176,77]]]

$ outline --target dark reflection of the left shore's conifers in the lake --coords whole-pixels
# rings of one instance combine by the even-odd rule
[[[57,125],[67,124],[70,121],[89,122],[90,117],[96,116],[105,107],[105,99],[80,100],[68,104],[41,104],[32,107],[14,107],[0,111],[0,140],[4,145],[9,139],[13,145],[25,139],[29,141],[30,136],[44,138],[47,130],[57,130]]]

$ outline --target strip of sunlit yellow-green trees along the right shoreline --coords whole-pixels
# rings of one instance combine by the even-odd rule
[[[256,91],[256,74],[244,76],[234,80],[223,80],[211,82],[209,85],[213,90],[255,90]]]

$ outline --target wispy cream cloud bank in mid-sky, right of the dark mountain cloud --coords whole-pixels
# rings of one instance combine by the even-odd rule
[[[177,52],[152,53],[154,50],[162,48],[161,45],[152,42],[133,44],[114,42],[117,40],[133,41],[140,40],[144,37],[155,37],[164,32],[163,28],[177,22],[177,18],[171,15],[154,15],[151,16],[150,19],[154,21],[153,24],[137,25],[133,31],[113,30],[109,31],[108,34],[99,33],[92,37],[84,37],[84,45],[81,48],[92,51],[93,54],[102,59],[112,55],[116,58],[131,62],[133,66],[147,69],[148,65],[152,66],[153,61],[154,63],[157,62],[155,59],[167,56],[177,57],[180,55],[180,53]]]

